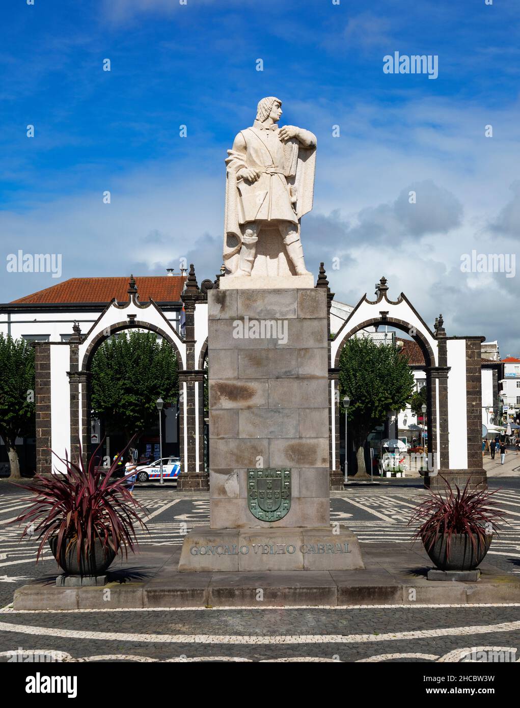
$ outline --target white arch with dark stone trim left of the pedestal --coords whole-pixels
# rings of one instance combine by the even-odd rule
[[[60,469],[59,461],[51,459],[50,449],[60,456],[67,450],[71,459],[77,459],[80,440],[83,459],[88,457],[91,447],[90,368],[93,355],[100,344],[115,333],[144,329],[165,338],[177,355],[182,472],[178,487],[207,489],[207,474],[204,472],[204,371],[195,363],[200,360],[207,338],[207,297],[200,291],[191,266],[181,295],[186,321],[185,336],[180,336],[153,299],[144,304],[139,302],[133,276],[127,294],[127,302],[112,299],[86,334],[82,334],[76,324],[68,342],[36,344],[37,471]],[[197,338],[195,324],[199,333]],[[47,404],[47,397],[50,405]]]

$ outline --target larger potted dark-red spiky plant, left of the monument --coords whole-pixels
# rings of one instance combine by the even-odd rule
[[[146,529],[138,513],[146,510],[127,489],[127,478],[132,475],[115,479],[112,473],[120,457],[105,469],[96,464],[96,452],[88,467],[80,452],[77,464],[67,457],[58,458],[67,474],[37,475],[30,484],[20,485],[36,497],[12,523],[25,523],[22,538],[31,530],[40,539],[36,562],[49,542],[67,575],[103,574],[120,550],[126,556],[128,550],[134,552],[135,525]]]

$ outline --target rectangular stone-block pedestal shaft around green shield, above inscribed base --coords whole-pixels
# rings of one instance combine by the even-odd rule
[[[315,288],[208,293],[214,529],[266,526],[250,513],[244,492],[252,467],[292,470],[289,513],[269,525],[330,523],[323,483],[329,469],[326,295]],[[306,496],[300,479],[311,490]]]

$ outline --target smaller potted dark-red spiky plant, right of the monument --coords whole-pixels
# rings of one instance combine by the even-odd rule
[[[499,522],[504,521],[492,499],[498,490],[470,489],[468,480],[463,491],[456,486],[454,493],[444,481],[444,496],[430,492],[429,498],[415,509],[409,525],[419,526],[412,539],[422,541],[439,570],[474,570],[490,549]]]

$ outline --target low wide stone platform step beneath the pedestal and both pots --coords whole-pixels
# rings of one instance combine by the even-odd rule
[[[417,542],[364,544],[364,570],[305,573],[179,573],[180,552],[176,545],[143,545],[137,556],[120,554],[105,586],[57,587],[55,575],[37,579],[16,590],[14,610],[520,603],[520,578],[493,565],[490,554],[476,582],[427,580],[431,561]]]

